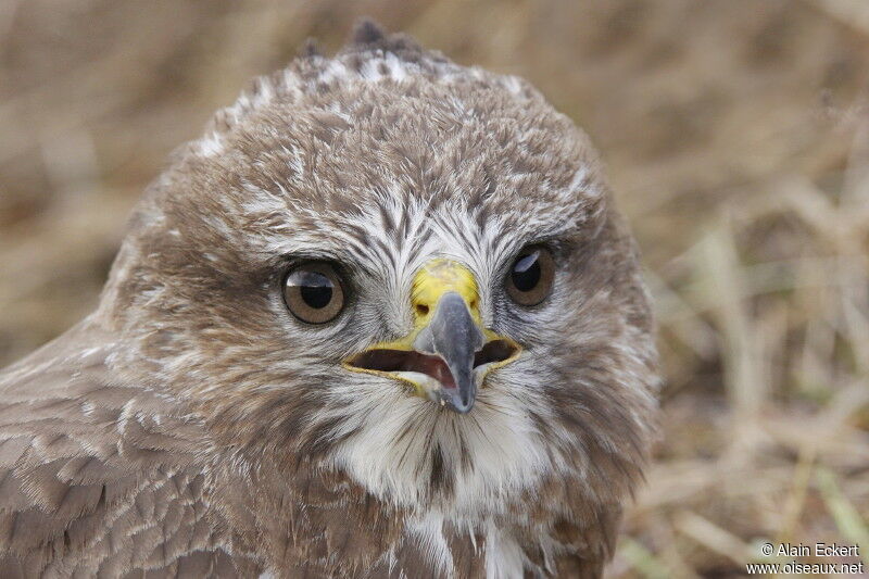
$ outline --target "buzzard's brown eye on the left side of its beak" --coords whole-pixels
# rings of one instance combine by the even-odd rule
[[[284,302],[302,322],[330,322],[344,306],[341,277],[328,263],[302,264],[290,269],[284,278]]]

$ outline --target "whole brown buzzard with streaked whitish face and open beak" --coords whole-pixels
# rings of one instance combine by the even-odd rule
[[[655,357],[585,136],[366,23],[179,149],[97,311],[0,374],[0,568],[594,577]]]

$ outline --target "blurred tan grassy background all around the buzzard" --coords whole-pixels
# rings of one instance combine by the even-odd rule
[[[866,0],[0,0],[0,366],[93,307],[173,148],[362,14],[528,78],[607,162],[667,378],[609,575],[869,566]]]

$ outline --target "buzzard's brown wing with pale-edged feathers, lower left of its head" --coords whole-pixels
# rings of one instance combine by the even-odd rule
[[[84,324],[0,374],[4,577],[235,577],[198,425],[116,379]]]

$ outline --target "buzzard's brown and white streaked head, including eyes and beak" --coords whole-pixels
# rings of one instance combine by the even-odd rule
[[[149,189],[100,315],[115,364],[287,484],[315,465],[473,518],[616,501],[647,446],[648,303],[588,138],[403,36],[221,111]]]

